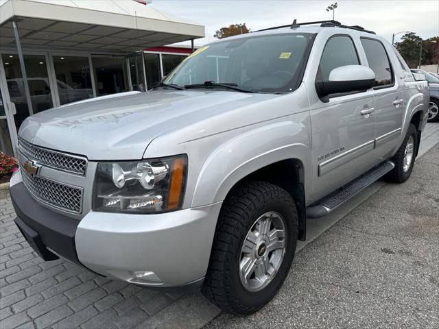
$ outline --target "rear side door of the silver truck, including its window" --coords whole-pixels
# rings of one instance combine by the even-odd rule
[[[399,69],[392,66],[383,42],[375,38],[361,37],[368,66],[375,73],[375,157],[383,160],[390,157],[401,136],[403,111],[403,80]],[[390,47],[390,46],[389,46]],[[390,49],[389,49],[390,50]],[[393,55],[393,54],[392,54]],[[392,57],[393,58],[393,57]]]

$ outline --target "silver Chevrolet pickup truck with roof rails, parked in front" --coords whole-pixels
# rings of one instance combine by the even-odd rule
[[[78,101],[19,130],[15,222],[45,260],[150,289],[269,302],[307,217],[410,177],[427,82],[335,21],[225,38],[154,90]]]

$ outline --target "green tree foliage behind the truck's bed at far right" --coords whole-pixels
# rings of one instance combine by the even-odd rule
[[[436,40],[436,43],[434,42]],[[414,32],[404,34],[401,42],[395,42],[395,47],[403,56],[410,68],[416,68],[419,64],[420,42],[423,43],[422,65],[438,64],[439,61],[439,37],[423,40]]]

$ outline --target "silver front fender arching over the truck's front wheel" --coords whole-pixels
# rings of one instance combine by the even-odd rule
[[[309,113],[302,112],[287,118],[288,121],[283,118],[283,121],[239,134],[213,150],[198,175],[192,206],[223,201],[237,182],[274,162],[294,158],[302,163],[311,163],[311,152],[307,146],[310,145]],[[307,191],[311,172],[306,168],[301,170],[304,172],[300,179],[305,181]]]

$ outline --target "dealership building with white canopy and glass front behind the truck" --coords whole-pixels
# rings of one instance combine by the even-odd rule
[[[204,26],[142,0],[0,0],[0,149],[29,115],[157,84]],[[192,40],[192,46],[171,47]]]

